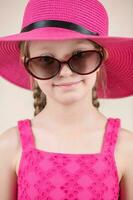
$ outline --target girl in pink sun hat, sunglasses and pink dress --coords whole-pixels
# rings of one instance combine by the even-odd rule
[[[0,75],[35,98],[0,136],[1,200],[133,199],[133,133],[97,100],[133,95],[133,38],[108,36],[99,1],[30,0]]]

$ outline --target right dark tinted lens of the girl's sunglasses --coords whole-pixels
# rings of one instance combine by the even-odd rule
[[[81,74],[94,71],[101,63],[101,56],[97,51],[80,52],[70,61],[71,67]]]

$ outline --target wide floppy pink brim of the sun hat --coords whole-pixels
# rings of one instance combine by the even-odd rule
[[[72,30],[47,27],[0,38],[0,76],[30,90],[30,76],[20,61],[20,41],[90,39],[108,51],[105,61],[106,96],[99,84],[98,98],[122,98],[133,95],[133,38],[92,36]]]

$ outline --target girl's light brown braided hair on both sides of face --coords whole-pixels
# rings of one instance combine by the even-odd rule
[[[89,40],[97,49],[101,48],[101,46],[97,43],[95,43],[92,40]],[[20,59],[22,60],[22,57],[29,57],[29,41],[22,41],[19,43],[19,49],[20,49]],[[103,53],[104,53],[104,59],[107,58],[107,51],[102,47]],[[46,95],[43,93],[37,82],[34,80],[34,78],[30,76],[30,85],[31,90],[33,91],[33,98],[34,98],[34,116],[39,114],[46,106],[47,99]],[[102,90],[104,93],[104,96],[106,96],[106,88],[107,88],[107,82],[106,82],[106,71],[105,67],[101,66],[99,69],[99,72],[97,72],[97,78],[95,85],[92,88],[92,104],[97,109],[100,106],[100,103],[98,101],[97,96],[97,86],[98,84],[101,84]]]

